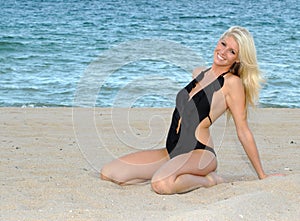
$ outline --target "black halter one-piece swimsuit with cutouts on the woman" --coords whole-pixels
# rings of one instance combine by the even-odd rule
[[[185,88],[180,90],[176,97],[176,108],[173,112],[166,148],[170,158],[196,149],[211,151],[216,155],[213,148],[200,143],[195,137],[195,131],[200,122],[209,116],[213,94],[220,90],[224,84],[224,75],[220,75],[212,83],[198,91],[190,98],[189,93],[200,82],[209,69],[202,71]],[[179,122],[181,118],[181,121]]]

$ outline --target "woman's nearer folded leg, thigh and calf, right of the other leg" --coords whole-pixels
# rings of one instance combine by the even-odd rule
[[[215,171],[217,160],[209,151],[193,150],[174,157],[153,176],[151,184],[159,194],[184,193],[222,182]]]

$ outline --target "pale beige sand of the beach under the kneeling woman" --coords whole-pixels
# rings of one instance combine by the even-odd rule
[[[267,173],[258,180],[232,121],[212,128],[227,182],[158,195],[120,187],[101,166],[164,145],[171,109],[0,108],[0,220],[300,220],[300,109],[251,110]]]

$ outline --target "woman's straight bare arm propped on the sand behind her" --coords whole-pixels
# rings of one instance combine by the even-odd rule
[[[226,95],[226,103],[232,113],[238,138],[243,145],[259,179],[263,179],[267,177],[267,175],[262,168],[256,143],[248,126],[244,86],[241,80],[236,76],[230,76],[227,83],[227,88],[229,88],[229,90]]]

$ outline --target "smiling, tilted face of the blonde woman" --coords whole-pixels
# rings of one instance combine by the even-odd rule
[[[218,66],[230,68],[238,62],[239,46],[236,40],[229,36],[219,40],[214,51],[214,63]]]

